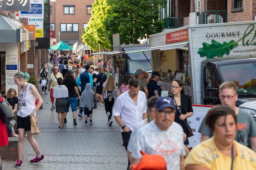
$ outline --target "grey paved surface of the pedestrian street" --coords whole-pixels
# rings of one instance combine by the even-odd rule
[[[50,70],[51,67],[48,69]],[[85,126],[84,119],[77,117],[78,125],[73,125],[73,115],[68,113],[63,129],[58,128],[58,118],[51,111],[50,93],[42,94],[43,109],[37,113],[40,134],[35,135],[41,152],[46,159],[40,164],[29,164],[35,156],[30,143],[25,140],[22,169],[85,169],[85,170],[125,170],[127,156],[122,146],[122,137],[116,121],[107,125],[104,106],[93,110],[93,125]],[[14,161],[3,161],[3,170],[16,169]]]

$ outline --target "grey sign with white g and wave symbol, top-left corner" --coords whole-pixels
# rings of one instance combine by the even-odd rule
[[[3,11],[29,11],[30,0],[2,0]]]

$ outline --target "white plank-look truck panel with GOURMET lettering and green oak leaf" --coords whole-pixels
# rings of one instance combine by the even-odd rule
[[[256,25],[240,24],[216,26],[210,32],[204,28],[196,29],[192,39],[200,57],[212,59],[228,55],[254,55],[256,53]],[[194,55],[195,56],[195,55]]]

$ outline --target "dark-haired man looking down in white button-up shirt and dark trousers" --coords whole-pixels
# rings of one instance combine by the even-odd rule
[[[135,125],[148,117],[146,95],[140,91],[138,80],[129,80],[129,90],[116,99],[113,115],[122,128],[122,139],[127,150]],[[128,161],[128,166],[129,164]]]

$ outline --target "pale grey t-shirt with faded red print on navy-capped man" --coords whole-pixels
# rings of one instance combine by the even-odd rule
[[[133,132],[132,132],[133,133]],[[173,122],[166,131],[160,130],[154,121],[142,127],[129,141],[129,151],[133,158],[142,158],[140,150],[146,154],[158,154],[164,157],[168,170],[180,169],[180,156],[185,156],[183,144],[183,129]]]

